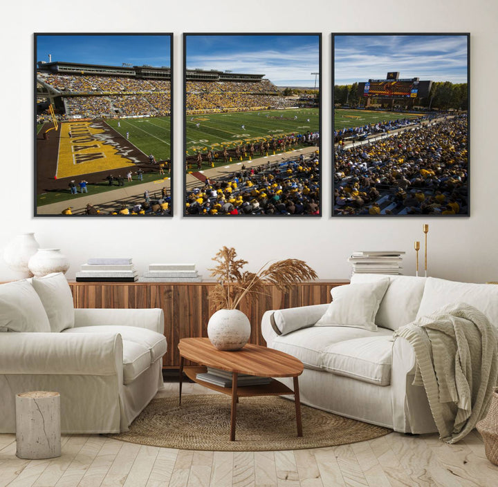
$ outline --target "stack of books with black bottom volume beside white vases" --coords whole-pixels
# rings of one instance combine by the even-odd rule
[[[76,273],[77,283],[133,283],[138,272],[131,258],[91,258]]]

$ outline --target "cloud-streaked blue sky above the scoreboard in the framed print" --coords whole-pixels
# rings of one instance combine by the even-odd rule
[[[463,35],[336,35],[334,84],[400,78],[467,82],[467,37]]]

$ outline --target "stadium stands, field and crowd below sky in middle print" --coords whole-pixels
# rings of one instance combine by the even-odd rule
[[[185,214],[320,214],[318,93],[186,70]]]

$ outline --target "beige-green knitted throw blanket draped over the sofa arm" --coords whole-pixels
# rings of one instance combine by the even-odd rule
[[[497,330],[478,309],[458,303],[398,328],[416,356],[439,437],[456,443],[488,412],[497,385]]]

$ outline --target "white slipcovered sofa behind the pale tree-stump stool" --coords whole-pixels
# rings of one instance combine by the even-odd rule
[[[73,309],[63,274],[0,285],[0,432],[15,394],[57,391],[64,433],[121,432],[163,387],[162,309]]]

